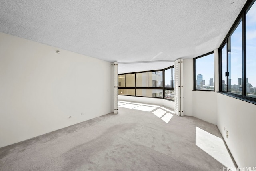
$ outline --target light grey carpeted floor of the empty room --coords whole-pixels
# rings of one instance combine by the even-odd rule
[[[160,107],[142,111],[122,105],[118,115],[110,113],[1,148],[0,170],[223,171],[221,161],[196,145],[196,127],[220,139],[216,125],[176,115],[166,123],[152,113]]]

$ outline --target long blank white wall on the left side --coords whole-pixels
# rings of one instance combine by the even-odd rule
[[[112,112],[110,62],[0,36],[1,147]]]

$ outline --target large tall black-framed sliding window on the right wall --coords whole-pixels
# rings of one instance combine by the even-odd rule
[[[256,3],[248,1],[220,46],[220,91],[256,101]]]

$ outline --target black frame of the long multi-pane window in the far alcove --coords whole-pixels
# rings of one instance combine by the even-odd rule
[[[157,98],[157,99],[166,99],[164,98],[164,95],[165,95],[165,90],[174,90],[174,85],[172,85],[173,87],[164,87],[165,85],[165,70],[168,70],[172,68],[172,72],[174,72],[173,68],[174,68],[174,65],[173,66],[170,66],[170,67],[167,67],[167,68],[164,68],[164,69],[160,69],[160,70],[148,70],[148,71],[140,71],[140,72],[129,72],[129,73],[122,73],[122,74],[118,74],[119,75],[126,75],[126,74],[135,74],[135,87],[126,87],[126,84],[125,84],[125,87],[118,87],[118,89],[135,89],[135,95],[124,95],[124,96],[134,96],[134,97],[147,97],[147,96],[138,96],[136,94],[136,90],[137,89],[161,89],[163,91],[163,94],[162,94],[162,97],[147,97],[147,98]],[[149,72],[153,72],[152,74],[156,74],[158,75],[158,72],[162,72],[162,87],[149,87],[149,84],[148,84],[148,87],[137,87],[136,85],[136,74],[138,73],[149,73]],[[159,74],[159,76],[161,76],[161,74]],[[173,84],[173,79],[172,78],[172,84]],[[148,79],[148,82],[149,82],[149,79]],[[126,80],[125,80],[125,83],[126,83]],[[120,95],[120,94],[118,94]],[[166,99],[166,100],[169,100],[169,101],[174,101],[172,99]]]

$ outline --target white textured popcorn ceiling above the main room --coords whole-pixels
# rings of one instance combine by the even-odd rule
[[[1,0],[0,30],[109,62],[170,61],[218,48],[245,3]]]

